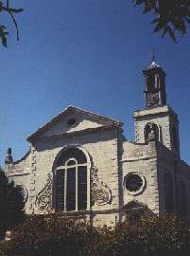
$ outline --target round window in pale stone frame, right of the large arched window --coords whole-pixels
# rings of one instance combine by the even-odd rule
[[[125,177],[125,187],[130,194],[143,192],[145,188],[145,178],[140,174],[130,173]]]

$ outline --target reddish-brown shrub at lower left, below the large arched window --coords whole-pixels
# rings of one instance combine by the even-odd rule
[[[78,256],[95,237],[98,231],[82,218],[33,215],[12,232],[11,240],[0,245],[0,250],[8,256]]]

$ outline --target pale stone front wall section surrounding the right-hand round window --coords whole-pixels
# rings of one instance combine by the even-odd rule
[[[147,205],[149,210],[159,213],[159,193],[157,176],[157,151],[155,141],[148,144],[124,142],[123,180],[130,173],[140,174],[145,178],[145,188],[137,194],[130,194],[123,184],[124,205],[132,200]]]

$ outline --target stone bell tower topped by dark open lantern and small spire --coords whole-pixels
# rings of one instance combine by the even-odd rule
[[[147,143],[148,131],[153,129],[156,139],[180,156],[179,120],[178,115],[167,105],[164,69],[153,58],[143,70],[143,76],[146,106],[134,112],[135,141]]]

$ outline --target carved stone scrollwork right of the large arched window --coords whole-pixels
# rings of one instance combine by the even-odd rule
[[[93,166],[91,170],[92,204],[96,204],[98,206],[111,204],[112,192],[104,182],[99,181],[97,172],[98,169],[95,166]]]

